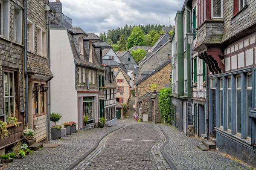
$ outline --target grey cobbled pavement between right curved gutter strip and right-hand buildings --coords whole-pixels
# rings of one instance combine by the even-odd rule
[[[221,155],[218,151],[201,151],[197,144],[201,140],[191,138],[172,126],[160,124],[169,136],[164,148],[178,170],[249,170],[250,168]]]

